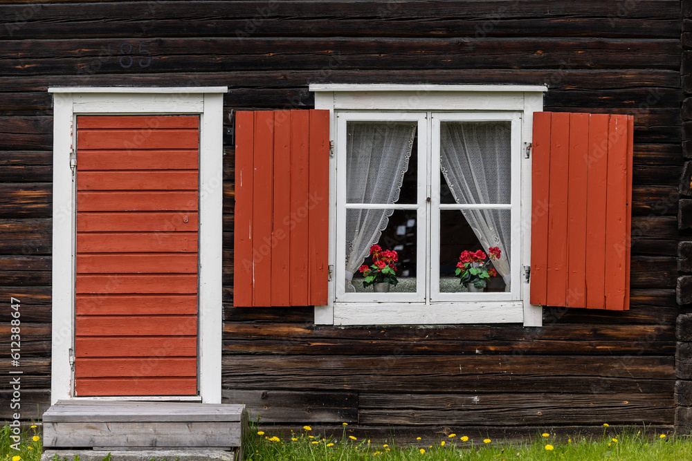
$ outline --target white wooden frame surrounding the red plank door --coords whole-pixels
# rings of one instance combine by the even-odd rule
[[[48,88],[53,93],[53,334],[51,403],[66,399],[221,403],[223,121],[225,86]],[[74,397],[75,183],[78,115],[199,115],[197,396]]]

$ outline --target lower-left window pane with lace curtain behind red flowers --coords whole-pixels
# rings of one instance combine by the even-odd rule
[[[457,211],[458,213],[458,211]],[[390,292],[415,292],[417,276],[417,211],[414,209],[348,209],[346,211],[346,271],[353,273],[352,287],[346,291],[372,292],[363,287],[361,265],[372,265],[370,247],[376,243],[382,250],[397,252],[394,263],[396,286]],[[380,229],[383,229],[380,231]]]

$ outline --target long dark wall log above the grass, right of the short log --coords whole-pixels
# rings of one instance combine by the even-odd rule
[[[361,394],[358,423],[426,426],[673,424],[670,394]],[[389,420],[387,418],[390,418]]]

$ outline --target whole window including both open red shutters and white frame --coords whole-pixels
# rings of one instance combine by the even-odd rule
[[[628,308],[631,116],[542,112],[543,86],[311,90],[316,109],[237,113],[235,305],[334,325]],[[389,292],[363,286],[373,244],[400,253]],[[490,247],[487,290],[460,285],[460,252]]]

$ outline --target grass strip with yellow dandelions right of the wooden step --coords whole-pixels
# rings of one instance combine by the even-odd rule
[[[309,428],[309,426],[306,426]],[[692,440],[675,435],[647,433],[628,428],[617,433],[608,427],[597,438],[559,437],[537,434],[525,442],[465,438],[463,434],[443,437],[435,442],[422,440],[416,446],[398,446],[358,440],[346,435],[325,438],[311,428],[282,440],[257,426],[251,428],[244,444],[245,461],[361,461],[361,460],[692,460]]]

